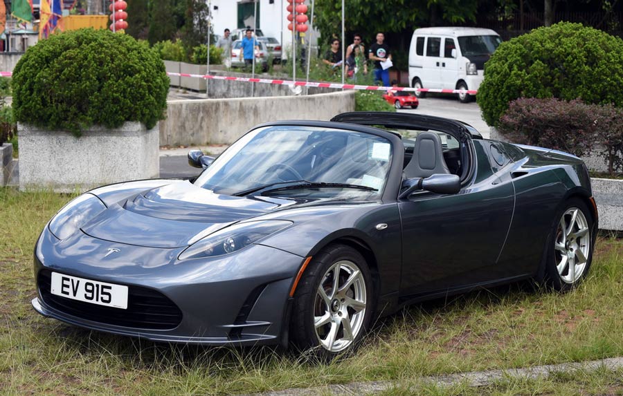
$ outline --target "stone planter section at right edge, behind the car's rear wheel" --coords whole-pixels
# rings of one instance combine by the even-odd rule
[[[591,178],[599,229],[623,231],[623,180]]]

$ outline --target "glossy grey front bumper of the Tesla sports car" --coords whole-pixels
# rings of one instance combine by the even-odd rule
[[[71,239],[55,241],[44,230],[37,243],[38,296],[32,305],[46,317],[152,341],[215,346],[279,343],[282,328],[287,328],[289,290],[303,261],[300,256],[251,245],[226,256],[180,262],[179,249],[120,245],[84,234]],[[121,249],[123,254],[102,258],[101,252],[107,252],[108,247]],[[181,321],[167,329],[150,328],[148,324],[118,326],[105,314],[98,317],[93,312],[89,315],[69,310],[55,304],[51,294],[41,289],[45,287],[39,284],[42,271],[153,290],[181,310]]]

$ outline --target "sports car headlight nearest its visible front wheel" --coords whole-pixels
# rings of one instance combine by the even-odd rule
[[[260,239],[292,225],[291,221],[261,220],[232,225],[190,245],[178,259],[222,256],[240,250]]]

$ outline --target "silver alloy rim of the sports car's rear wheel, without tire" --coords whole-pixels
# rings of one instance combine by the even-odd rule
[[[554,258],[560,279],[575,283],[584,271],[590,255],[590,229],[584,213],[570,207],[561,217],[554,242]]]

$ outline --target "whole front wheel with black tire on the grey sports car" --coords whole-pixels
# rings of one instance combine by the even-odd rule
[[[294,293],[292,341],[300,350],[313,350],[323,361],[350,352],[368,329],[372,301],[372,278],[365,258],[352,247],[329,245],[314,256]]]

